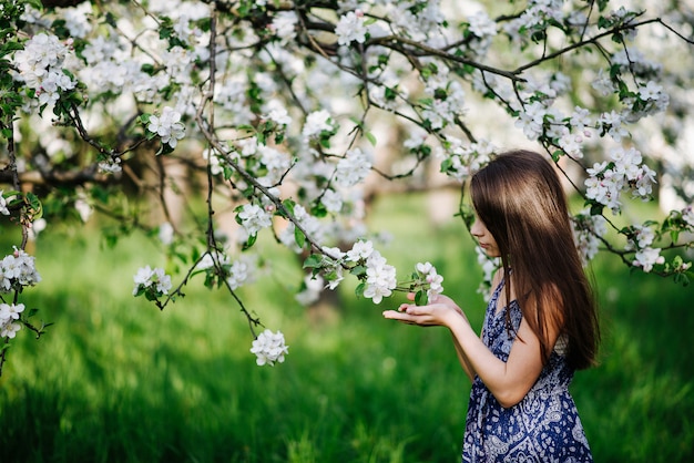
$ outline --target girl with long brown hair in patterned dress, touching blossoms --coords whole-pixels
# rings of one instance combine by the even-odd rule
[[[559,177],[540,154],[514,151],[474,174],[470,195],[470,232],[501,258],[481,337],[446,296],[384,317],[451,331],[472,381],[463,462],[591,462],[569,383],[593,364],[600,333]]]

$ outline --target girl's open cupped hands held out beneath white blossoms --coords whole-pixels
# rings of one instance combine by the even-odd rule
[[[415,294],[407,295],[409,300],[415,300]],[[456,302],[448,296],[438,295],[426,306],[415,303],[401,303],[398,310],[384,311],[384,318],[402,321],[408,325],[419,325],[422,327],[442,326],[450,327],[453,317],[462,317],[466,322],[468,318]]]

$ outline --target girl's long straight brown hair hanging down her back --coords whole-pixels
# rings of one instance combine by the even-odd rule
[[[553,166],[531,151],[502,153],[472,176],[470,194],[499,247],[507,303],[512,269],[519,306],[540,340],[543,361],[553,349],[552,323],[568,341],[569,364],[591,367],[600,342],[596,303]]]

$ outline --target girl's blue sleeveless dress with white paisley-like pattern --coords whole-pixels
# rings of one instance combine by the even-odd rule
[[[503,281],[494,289],[482,341],[507,361],[520,327],[518,301],[497,312]],[[509,308],[510,307],[510,308]],[[507,330],[510,310],[513,330]],[[558,342],[558,346],[560,342]],[[479,377],[472,382],[462,449],[463,462],[592,462],[593,457],[569,393],[573,369],[554,348],[538,381],[518,404],[504,409]]]

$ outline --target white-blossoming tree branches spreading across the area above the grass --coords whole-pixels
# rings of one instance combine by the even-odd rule
[[[442,277],[412,263],[397,278],[366,204],[427,187],[435,166],[469,226],[466,179],[504,145],[544,151],[583,198],[586,263],[606,251],[688,282],[691,17],[657,2],[459,3],[3,1],[0,214],[21,229],[0,267],[4,346],[45,330],[22,302],[41,280],[28,245],[96,213],[120,224],[104,230],[115,246],[134,229],[159,237],[166,268],[133,269],[134,296],[164,309],[195,281],[224,289],[258,364],[283,361],[282,332],[238,295],[258,237],[299,257],[305,303],[346,276],[375,303],[394,290],[422,302]],[[669,209],[629,223],[665,192]]]

